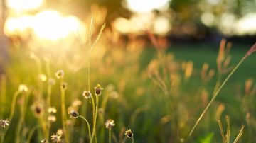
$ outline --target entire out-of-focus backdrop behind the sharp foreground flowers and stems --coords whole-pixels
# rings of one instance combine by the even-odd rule
[[[42,90],[45,98],[45,81],[58,69],[68,83],[66,105],[82,101],[79,113],[91,118],[90,103],[81,96],[89,60],[81,47],[90,42],[90,30],[92,41],[97,39],[104,23],[90,54],[92,85],[102,84],[109,100],[99,140],[107,141],[104,119],[112,118],[118,141],[132,128],[137,142],[183,142],[214,87],[256,41],[256,0],[1,0],[0,87],[3,91],[4,83],[8,89],[1,96],[0,118],[9,115],[19,84],[31,89],[28,106],[37,100],[33,90]],[[255,59],[248,58],[230,79],[191,142],[221,142],[215,119],[224,122],[225,115],[230,115],[231,140],[246,124],[242,142],[256,142]],[[41,74],[47,79],[41,81]],[[58,89],[53,88],[53,101],[60,98]],[[60,103],[53,106],[60,109]],[[24,140],[36,125],[33,112],[27,112]],[[87,142],[84,124],[71,121],[73,142]],[[57,118],[50,133],[60,127]],[[13,142],[14,130],[7,132],[7,142]],[[31,141],[39,142],[38,137]]]

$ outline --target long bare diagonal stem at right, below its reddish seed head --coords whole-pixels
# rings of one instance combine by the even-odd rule
[[[235,66],[235,68],[230,72],[230,74],[228,74],[227,78],[225,79],[225,81],[223,81],[223,84],[221,84],[221,86],[218,88],[218,90],[214,93],[213,98],[211,98],[210,102],[208,103],[208,105],[206,106],[206,108],[203,110],[203,113],[201,113],[200,117],[198,118],[198,120],[196,121],[195,125],[193,125],[193,128],[191,130],[191,132],[189,132],[188,137],[190,137],[193,133],[193,130],[195,130],[196,126],[198,125],[198,123],[201,121],[201,119],[203,118],[203,115],[206,114],[206,111],[208,110],[208,108],[210,107],[210,105],[213,103],[213,101],[215,100],[215,98],[218,96],[218,93],[220,93],[221,89],[223,88],[223,86],[225,86],[225,84],[227,83],[228,79],[230,79],[230,77],[234,74],[234,72],[238,69],[238,67],[240,67],[240,64],[242,64],[242,62],[246,59],[246,56],[242,57],[242,59],[240,60],[240,62],[238,62],[238,64]]]

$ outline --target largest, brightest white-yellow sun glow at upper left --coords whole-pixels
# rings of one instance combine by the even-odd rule
[[[11,35],[32,34],[35,38],[58,40],[68,38],[84,30],[82,23],[75,16],[61,16],[57,11],[42,11],[36,16],[7,18],[4,33]]]

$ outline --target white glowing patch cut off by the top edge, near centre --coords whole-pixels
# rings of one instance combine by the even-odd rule
[[[127,8],[134,12],[150,12],[154,9],[167,9],[170,0],[126,0]]]

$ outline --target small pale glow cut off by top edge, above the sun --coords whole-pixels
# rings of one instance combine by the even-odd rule
[[[15,11],[33,10],[39,8],[43,0],[7,0],[6,5]]]

